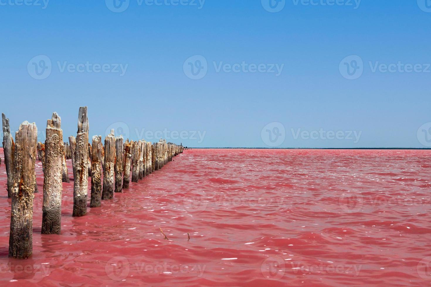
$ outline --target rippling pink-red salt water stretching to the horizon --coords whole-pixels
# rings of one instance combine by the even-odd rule
[[[72,217],[73,181],[63,183],[61,235],[40,234],[37,162],[25,260],[8,258],[3,161],[0,285],[427,286],[430,155],[187,150],[83,217]]]

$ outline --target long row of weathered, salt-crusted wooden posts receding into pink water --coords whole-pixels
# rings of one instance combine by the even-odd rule
[[[87,107],[79,108],[78,133],[76,138],[69,137],[69,144],[63,142],[61,118],[56,112],[47,121],[44,144],[37,143],[35,123],[23,122],[14,142],[9,119],[4,114],[2,121],[7,192],[12,198],[9,256],[15,258],[28,258],[32,254],[36,154],[44,173],[42,234],[60,234],[62,182],[69,182],[66,158],[72,159],[73,168],[72,215],[83,216],[87,213],[88,176],[91,176],[90,207],[100,207],[101,200],[112,199],[114,192],[128,188],[130,173],[132,182],[138,182],[184,151],[182,145],[166,140],[123,142],[121,135],[115,137],[114,130],[106,136],[104,146],[101,136],[93,136],[90,144]]]

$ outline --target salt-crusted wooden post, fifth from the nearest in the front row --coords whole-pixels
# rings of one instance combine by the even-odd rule
[[[114,198],[116,140],[114,130],[105,138],[105,170],[103,172],[102,200]]]

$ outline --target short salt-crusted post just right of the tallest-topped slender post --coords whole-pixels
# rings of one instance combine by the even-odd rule
[[[91,142],[91,199],[90,207],[100,207],[102,199],[102,172],[100,163],[102,161],[102,136],[93,136]]]

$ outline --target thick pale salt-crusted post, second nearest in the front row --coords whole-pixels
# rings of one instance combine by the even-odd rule
[[[61,118],[54,112],[52,119],[47,120],[47,138],[45,140],[42,234],[60,234],[61,231],[63,158]]]

